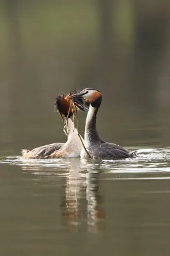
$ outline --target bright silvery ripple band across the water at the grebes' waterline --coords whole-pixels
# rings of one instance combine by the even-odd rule
[[[0,159],[1,164],[21,166],[22,170],[34,170],[48,175],[60,171],[59,175],[66,175],[70,170],[79,172],[105,173],[169,173],[170,148],[142,148],[137,150],[137,158],[121,160],[84,161],[76,159],[23,159],[20,156],[7,156]],[[65,170],[65,172],[63,172]],[[50,172],[50,173],[49,173]],[[58,172],[57,172],[58,173]]]

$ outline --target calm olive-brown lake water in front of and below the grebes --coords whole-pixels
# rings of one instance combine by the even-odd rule
[[[137,152],[121,161],[1,157],[1,255],[169,255],[170,148]]]

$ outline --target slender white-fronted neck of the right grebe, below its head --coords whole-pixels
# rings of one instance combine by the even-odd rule
[[[89,105],[89,111],[86,118],[86,126],[85,126],[85,134],[84,134],[85,143],[87,142],[88,144],[90,144],[91,142],[93,143],[95,141],[101,140],[96,129],[97,111],[98,111],[98,107],[93,107],[91,106],[91,104]]]

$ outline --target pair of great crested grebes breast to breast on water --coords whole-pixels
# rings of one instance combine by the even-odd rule
[[[135,157],[135,152],[130,153],[120,145],[106,142],[100,138],[96,128],[96,120],[101,103],[102,94],[94,88],[86,88],[79,93],[70,93],[66,97],[59,95],[54,105],[65,123],[67,134],[66,143],[52,143],[34,148],[33,150],[22,150],[22,157],[25,159],[68,157],[81,157],[82,159],[123,159]],[[70,108],[70,106],[72,107]],[[82,111],[88,111],[84,140],[79,135],[71,118],[73,113],[77,111],[76,108]]]

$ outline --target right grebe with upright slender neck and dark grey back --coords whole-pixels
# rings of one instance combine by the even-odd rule
[[[84,143],[92,159],[120,159],[127,157],[135,157],[135,153],[128,152],[127,149],[109,143],[100,138],[96,129],[97,112],[102,102],[102,94],[94,88],[86,88],[81,92],[71,96],[73,100],[77,97],[84,97],[89,101],[88,115],[86,118]],[[85,110],[85,109],[83,109]],[[88,155],[81,151],[81,158],[88,159]]]

